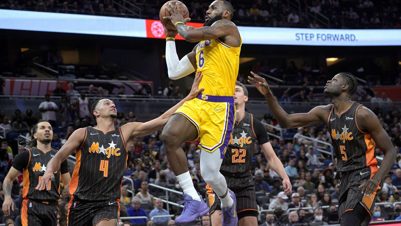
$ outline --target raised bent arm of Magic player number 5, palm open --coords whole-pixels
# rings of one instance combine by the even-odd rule
[[[248,82],[256,86],[257,90],[265,96],[266,102],[281,128],[305,127],[327,120],[331,108],[329,105],[317,106],[308,113],[287,114],[275,100],[266,79],[253,72],[251,75],[253,77],[248,76]]]

